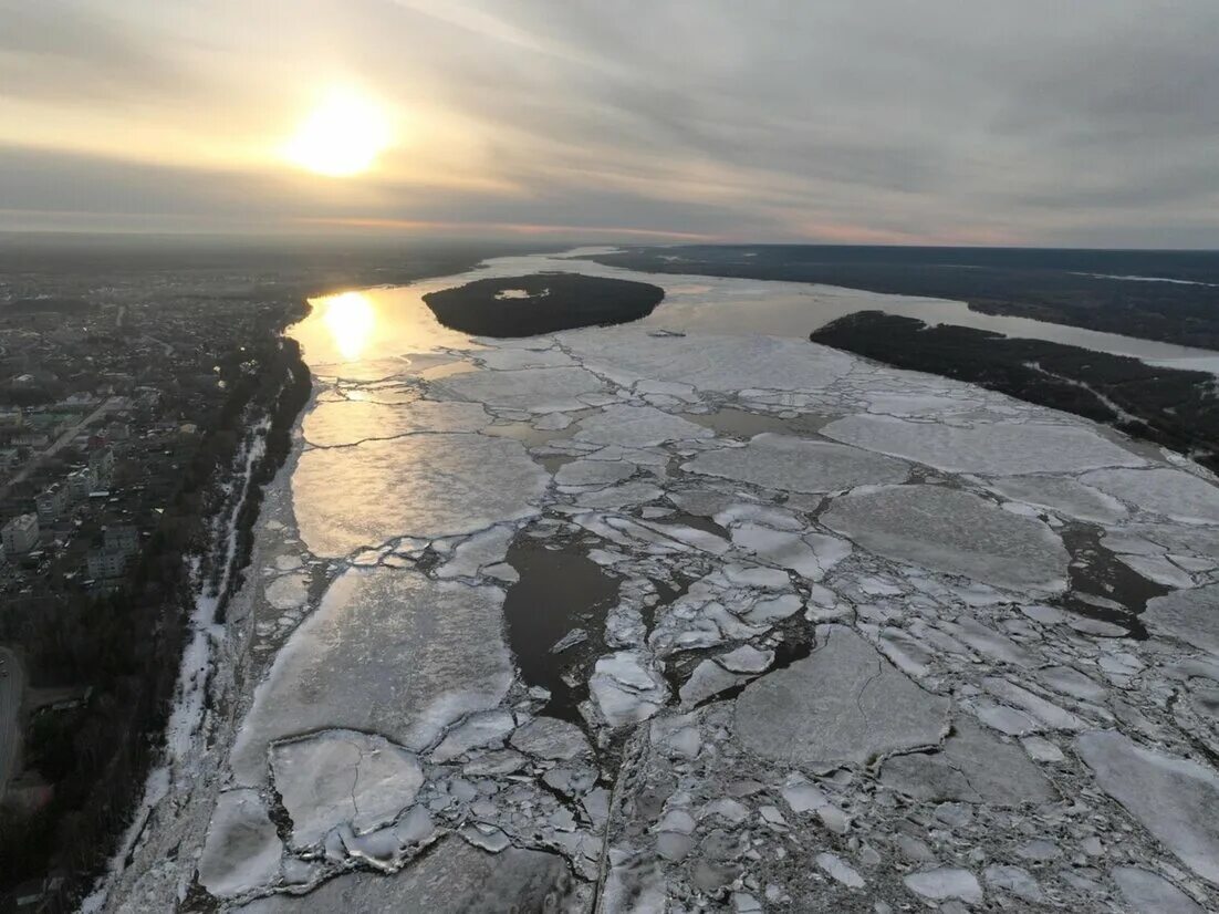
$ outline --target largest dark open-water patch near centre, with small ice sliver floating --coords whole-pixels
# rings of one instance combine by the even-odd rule
[[[618,579],[573,545],[546,548],[529,537],[517,537],[507,562],[521,575],[503,603],[521,675],[527,685],[550,691],[542,714],[583,726],[588,668],[605,652],[605,620],[618,601]],[[555,653],[551,648],[573,629],[588,637]]]

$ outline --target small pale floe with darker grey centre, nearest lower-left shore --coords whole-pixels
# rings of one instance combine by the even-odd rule
[[[283,852],[258,792],[227,791],[207,826],[199,884],[217,898],[244,895],[274,880]]]

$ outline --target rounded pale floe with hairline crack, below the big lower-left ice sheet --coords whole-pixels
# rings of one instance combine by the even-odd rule
[[[352,730],[277,743],[271,770],[297,847],[318,843],[339,825],[362,832],[393,821],[423,784],[413,753]]]

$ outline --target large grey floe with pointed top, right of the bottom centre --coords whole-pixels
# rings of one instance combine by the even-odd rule
[[[745,687],[736,700],[736,732],[758,756],[829,771],[939,743],[950,706],[853,630],[833,625],[807,659]]]

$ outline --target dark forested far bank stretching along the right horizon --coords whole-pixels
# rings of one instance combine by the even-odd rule
[[[952,299],[990,314],[1219,350],[1219,252],[694,245],[630,247],[592,260],[652,273]]]

